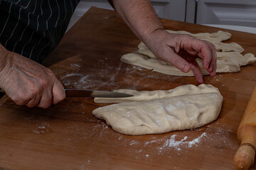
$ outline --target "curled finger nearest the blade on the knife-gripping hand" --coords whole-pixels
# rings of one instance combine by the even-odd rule
[[[65,98],[65,91],[63,85],[56,79],[53,84],[53,104],[63,101]]]

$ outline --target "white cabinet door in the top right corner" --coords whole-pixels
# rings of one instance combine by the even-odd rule
[[[255,0],[198,0],[196,23],[256,27]]]

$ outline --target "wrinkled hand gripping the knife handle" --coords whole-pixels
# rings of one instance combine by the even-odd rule
[[[0,44],[0,87],[18,105],[48,108],[65,98],[53,72]]]

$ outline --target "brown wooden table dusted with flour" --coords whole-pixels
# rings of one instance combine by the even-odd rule
[[[161,21],[166,29],[191,33],[225,30]],[[256,35],[225,31],[232,33],[227,42],[238,42],[245,52],[256,54]],[[122,55],[137,51],[139,42],[114,11],[91,8],[45,64],[65,87],[142,91],[197,84],[194,77],[169,76],[120,62]],[[95,108],[105,106],[92,98],[66,98],[42,109],[16,106],[4,96],[0,101],[0,169],[235,169],[236,130],[255,86],[255,64],[238,73],[206,76],[204,81],[223,94],[218,120],[162,135],[115,132],[92,115]]]

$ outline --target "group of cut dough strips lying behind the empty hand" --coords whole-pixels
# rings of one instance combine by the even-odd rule
[[[217,70],[216,72],[240,72],[240,67],[251,64],[256,61],[255,55],[247,53],[241,55],[244,49],[235,42],[223,43],[221,41],[228,40],[231,37],[230,33],[223,31],[218,31],[217,33],[198,33],[191,34],[186,31],[173,31],[167,30],[170,33],[178,34],[189,34],[201,40],[208,40],[212,42],[216,47],[217,51]],[[193,72],[183,73],[174,67],[172,64],[159,60],[154,56],[154,54],[141,42],[139,45],[139,50],[136,53],[130,53],[123,55],[121,61],[127,64],[134,64],[146,69],[151,69],[154,72],[161,72],[169,75],[176,76],[193,76]],[[207,75],[208,72],[203,68],[202,60],[197,59],[199,67],[203,75]]]

